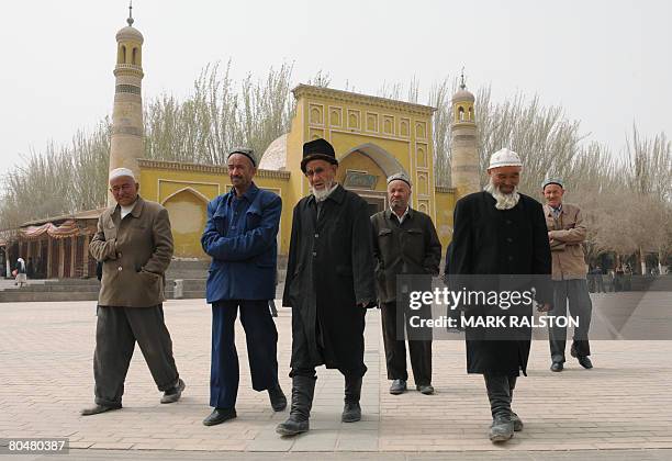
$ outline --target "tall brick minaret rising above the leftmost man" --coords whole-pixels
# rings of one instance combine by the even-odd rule
[[[133,27],[133,5],[128,5],[127,26],[116,33],[114,110],[110,143],[110,170],[128,168],[139,179],[137,159],[145,154],[143,126],[143,34]],[[114,204],[108,194],[108,204]]]

